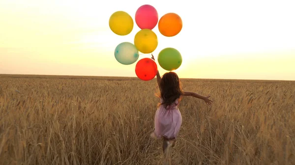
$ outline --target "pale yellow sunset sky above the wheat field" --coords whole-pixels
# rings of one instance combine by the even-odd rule
[[[294,0],[0,0],[0,74],[136,77],[136,63],[118,63],[114,50],[134,43],[144,4],[182,19],[174,37],[152,29],[155,58],[181,53],[180,78],[295,80]],[[111,31],[116,11],[133,18],[130,34]]]

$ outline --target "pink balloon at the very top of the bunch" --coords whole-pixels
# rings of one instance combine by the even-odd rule
[[[141,29],[152,30],[158,23],[158,12],[151,5],[142,5],[135,13],[135,22]]]

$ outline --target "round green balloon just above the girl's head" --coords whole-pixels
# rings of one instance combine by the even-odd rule
[[[160,51],[158,55],[158,63],[164,70],[174,71],[180,67],[182,57],[177,49],[167,47]]]

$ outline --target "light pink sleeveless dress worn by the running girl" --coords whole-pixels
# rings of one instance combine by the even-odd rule
[[[177,107],[178,103],[177,99],[167,109],[162,105],[157,109],[154,119],[154,134],[158,139],[161,137],[167,139],[177,138],[182,123],[181,113]]]

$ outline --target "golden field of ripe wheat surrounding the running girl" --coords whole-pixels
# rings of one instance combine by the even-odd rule
[[[295,82],[182,79],[173,165],[295,165]],[[0,75],[0,165],[162,165],[155,80]]]

